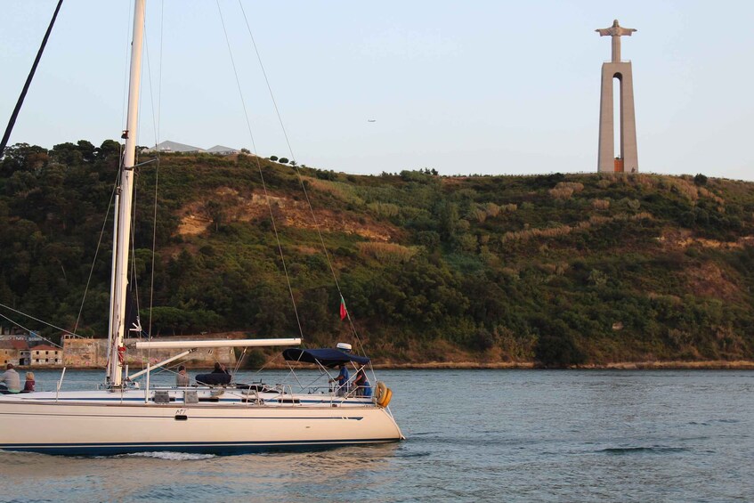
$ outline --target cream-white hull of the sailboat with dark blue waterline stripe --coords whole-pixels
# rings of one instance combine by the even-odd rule
[[[60,393],[57,402],[55,393],[3,395],[0,449],[68,455],[156,450],[231,454],[402,438],[389,411],[369,399],[262,393],[263,404],[232,394],[221,402],[187,404],[181,390],[170,396],[175,402],[145,403],[138,390]]]

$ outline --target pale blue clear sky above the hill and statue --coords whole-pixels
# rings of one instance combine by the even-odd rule
[[[55,4],[2,3],[3,127]],[[63,3],[11,144],[118,139],[132,4]],[[639,170],[754,180],[752,2],[149,0],[147,9],[140,145],[245,147],[350,174],[595,172],[600,71],[611,57],[595,29],[618,19],[638,30],[621,52],[633,66]]]

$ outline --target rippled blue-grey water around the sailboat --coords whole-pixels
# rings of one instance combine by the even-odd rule
[[[754,500],[754,371],[379,377],[405,442],[230,457],[0,452],[0,500]]]

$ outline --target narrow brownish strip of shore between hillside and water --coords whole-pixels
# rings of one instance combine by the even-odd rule
[[[709,361],[616,361],[592,363],[567,368],[541,367],[534,361],[426,361],[424,363],[376,363],[380,370],[754,370],[754,361],[709,360]],[[268,365],[266,369],[288,369],[286,365]],[[313,368],[313,367],[312,367]],[[24,370],[62,370],[63,367],[19,367]],[[67,367],[69,370],[101,370],[99,367]],[[207,369],[207,366],[188,367],[188,370]],[[242,369],[251,370],[251,369]]]

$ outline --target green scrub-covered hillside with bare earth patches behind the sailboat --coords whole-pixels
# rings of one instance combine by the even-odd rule
[[[109,222],[94,256],[118,152],[110,141],[6,152],[0,303],[104,335]],[[354,326],[379,362],[754,360],[752,183],[428,170],[357,176],[308,167],[300,174]],[[145,329],[154,233],[154,335],[296,336],[276,229],[308,344],[353,342],[293,166],[164,155],[140,168],[136,191],[133,282]]]

